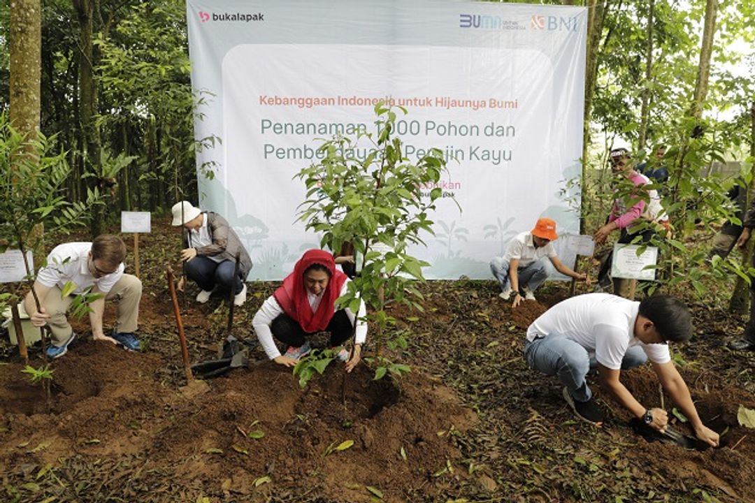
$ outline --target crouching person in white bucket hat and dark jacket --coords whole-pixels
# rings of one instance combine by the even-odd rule
[[[171,211],[172,225],[183,225],[184,271],[201,289],[196,302],[204,304],[214,290],[233,289],[233,304],[242,305],[246,301],[244,280],[251,270],[251,257],[227,220],[212,211],[199,210],[189,201],[174,204]],[[239,275],[235,276],[237,254]],[[182,278],[178,290],[183,287]]]

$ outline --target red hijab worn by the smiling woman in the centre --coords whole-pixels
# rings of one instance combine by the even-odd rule
[[[322,293],[316,312],[310,307],[307,287],[304,285],[304,272],[314,264],[324,265],[330,273],[328,286]],[[325,250],[307,250],[294,265],[294,272],[285,277],[283,286],[273,296],[285,314],[296,320],[304,332],[319,332],[328,327],[334,314],[335,300],[341,296],[341,288],[346,280],[347,275],[336,270],[331,253]]]

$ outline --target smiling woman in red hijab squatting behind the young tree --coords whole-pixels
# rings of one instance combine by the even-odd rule
[[[267,357],[293,367],[311,350],[307,337],[317,332],[329,332],[328,345],[342,345],[351,337],[356,322],[351,359],[345,349],[338,354],[346,361],[346,371],[351,372],[359,363],[362,344],[367,337],[367,324],[363,320],[363,302],[356,315],[349,308],[335,311],[335,301],[347,292],[348,281],[347,275],[335,268],[331,253],[307,250],[296,262],[294,272],[286,276],[282,287],[263,302],[251,322]],[[280,353],[273,337],[288,345],[285,354]]]

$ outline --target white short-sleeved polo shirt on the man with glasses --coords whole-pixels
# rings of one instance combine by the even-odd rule
[[[76,285],[73,293],[83,293],[88,287],[97,285],[97,290],[108,293],[121,276],[125,266],[121,263],[115,272],[94,278],[89,271],[88,256],[91,243],[65,243],[54,247],[48,255],[47,264],[39,269],[36,281],[45,287],[58,287],[63,290],[69,281]]]

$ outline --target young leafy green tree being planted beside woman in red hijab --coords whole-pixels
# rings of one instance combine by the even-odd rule
[[[375,377],[390,372],[400,375],[408,367],[393,363],[382,351],[405,347],[401,333],[391,330],[396,320],[387,305],[402,303],[421,310],[417,282],[424,281],[427,264],[411,256],[408,247],[424,244],[424,233],[433,235],[430,214],[442,190],[436,187],[445,158],[439,149],[416,162],[403,153],[396,136],[396,115],[384,103],[374,107],[376,133],[359,131],[354,138],[337,136],[319,148],[324,158],[300,171],[307,186],[307,200],[300,205],[300,219],[307,228],[322,234],[321,245],[341,250],[353,244],[360,274],[349,283],[340,305],[353,311],[360,299],[368,306],[368,321],[374,327],[377,345],[373,363]],[[365,158],[353,154],[357,144],[370,143]],[[356,312],[356,311],[355,311]]]

